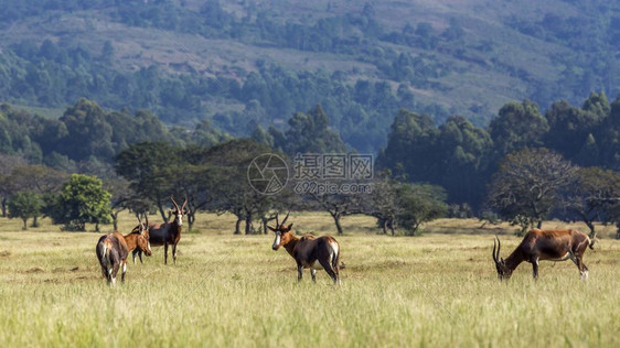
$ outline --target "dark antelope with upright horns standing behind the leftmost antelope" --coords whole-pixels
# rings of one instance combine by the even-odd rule
[[[151,246],[161,247],[163,246],[163,263],[168,264],[168,246],[172,246],[172,260],[174,264],[177,264],[177,244],[181,240],[181,230],[183,227],[183,215],[185,214],[185,205],[188,204],[188,197],[183,202],[181,208],[174,198],[170,196],[170,202],[174,206],[174,209],[171,209],[171,214],[174,215],[174,220],[172,222],[156,222],[149,225],[150,231],[150,242]],[[133,231],[138,229],[138,227],[133,228]],[[140,254],[141,251],[138,251],[137,254],[140,257],[140,261],[142,260],[142,255]],[[136,257],[133,257],[136,258]]]

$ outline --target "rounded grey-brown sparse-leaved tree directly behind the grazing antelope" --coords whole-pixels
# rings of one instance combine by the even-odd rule
[[[575,180],[576,167],[547,149],[526,148],[506,155],[493,175],[489,205],[525,232],[541,228],[558,203],[559,189]]]

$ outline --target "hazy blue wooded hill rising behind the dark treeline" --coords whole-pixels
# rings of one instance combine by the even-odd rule
[[[233,134],[321,104],[360,151],[399,108],[485,124],[530,98],[620,86],[620,4],[603,1],[1,0],[0,99],[148,108]]]

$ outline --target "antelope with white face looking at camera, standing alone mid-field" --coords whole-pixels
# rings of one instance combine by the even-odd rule
[[[312,281],[317,282],[317,270],[322,268],[331,276],[334,284],[340,284],[340,244],[338,241],[331,236],[297,238],[291,231],[292,224],[285,225],[288,216],[287,214],[281,224],[278,222],[278,216],[276,216],[276,227],[268,226],[270,230],[276,232],[271,249],[277,251],[280,247],[284,247],[295,259],[298,282],[301,282],[303,269],[310,269]]]

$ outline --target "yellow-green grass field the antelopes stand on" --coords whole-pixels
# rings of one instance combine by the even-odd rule
[[[151,216],[150,220],[158,220]],[[299,233],[334,233],[322,214],[293,214]],[[121,216],[127,233],[137,220]],[[598,227],[589,279],[575,264],[522,264],[499,282],[491,250],[520,241],[507,226],[437,220],[421,237],[376,235],[373,220],[343,219],[342,285],[324,271],[297,283],[293,259],[268,236],[233,236],[231,216],[197,217],[177,265],[163,248],[128,262],[110,289],[95,246],[101,233],[61,232],[47,219],[21,230],[0,219],[2,347],[618,347],[620,241]],[[548,221],[544,228],[567,227]],[[576,225],[581,231],[585,228]],[[93,228],[90,228],[93,229]],[[103,226],[109,231],[111,226]],[[171,258],[170,258],[171,259]],[[171,260],[170,260],[171,261]]]

